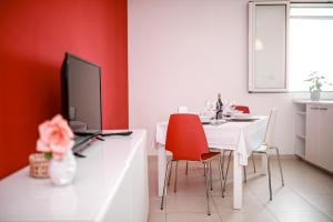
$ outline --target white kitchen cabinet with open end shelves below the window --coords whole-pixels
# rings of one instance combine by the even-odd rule
[[[333,102],[294,101],[294,103],[295,154],[333,172]],[[300,111],[305,108],[304,112]],[[300,120],[300,113],[303,113],[303,120]],[[303,132],[305,137],[302,140]]]

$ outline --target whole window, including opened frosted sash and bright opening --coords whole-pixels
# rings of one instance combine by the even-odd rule
[[[309,91],[314,71],[333,82],[332,61],[333,3],[249,3],[250,92]]]

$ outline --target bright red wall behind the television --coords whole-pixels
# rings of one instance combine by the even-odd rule
[[[28,164],[61,111],[64,52],[102,67],[103,128],[128,128],[127,0],[0,1],[0,178]]]

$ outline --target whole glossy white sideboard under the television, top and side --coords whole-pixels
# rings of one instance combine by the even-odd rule
[[[77,159],[70,185],[30,178],[28,167],[1,180],[0,221],[147,221],[145,130],[104,139]]]

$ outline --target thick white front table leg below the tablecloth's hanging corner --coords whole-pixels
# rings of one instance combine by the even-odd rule
[[[240,210],[243,205],[243,165],[240,164],[238,152],[233,152],[233,209]]]

